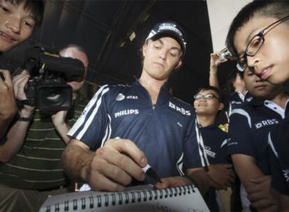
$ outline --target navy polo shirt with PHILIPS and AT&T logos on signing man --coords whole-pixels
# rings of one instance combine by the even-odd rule
[[[68,135],[91,149],[110,138],[131,139],[161,177],[180,176],[183,167],[202,167],[193,107],[173,97],[166,85],[156,105],[138,80],[102,86]]]

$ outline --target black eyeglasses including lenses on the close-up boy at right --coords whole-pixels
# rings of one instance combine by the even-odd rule
[[[251,38],[251,40],[246,46],[245,54],[238,59],[238,62],[237,62],[238,70],[244,71],[248,66],[247,56],[255,56],[255,54],[257,54],[257,52],[260,50],[260,48],[265,42],[264,32],[266,31],[266,29],[268,29],[269,27],[272,27],[274,24],[285,21],[286,19],[288,19],[288,17],[289,15],[281,18],[280,20],[277,20],[276,22],[273,22],[272,24],[269,24],[268,27],[266,27],[265,29],[262,29],[262,31],[260,31],[258,34],[253,36],[253,38]]]

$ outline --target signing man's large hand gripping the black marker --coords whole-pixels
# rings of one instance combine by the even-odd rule
[[[94,190],[121,191],[132,178],[143,181],[146,166],[144,152],[131,140],[109,139],[96,150],[87,181]]]

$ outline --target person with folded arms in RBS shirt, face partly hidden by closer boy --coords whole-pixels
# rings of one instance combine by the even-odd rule
[[[242,181],[243,209],[249,210],[251,205],[251,209],[272,210],[276,201],[269,193],[271,176],[266,137],[269,130],[284,119],[288,95],[281,85],[265,82],[248,68],[244,73],[244,82],[253,99],[232,110],[228,155]],[[257,193],[258,197],[254,197]]]

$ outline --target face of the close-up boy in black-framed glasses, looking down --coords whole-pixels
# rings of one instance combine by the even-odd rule
[[[273,17],[253,16],[249,22],[236,31],[234,44],[238,56],[242,57],[246,46],[257,35],[276,22]],[[288,20],[287,20],[288,22]],[[254,56],[246,56],[253,73],[272,84],[281,84],[289,79],[289,25],[274,24],[264,31],[264,42]]]

